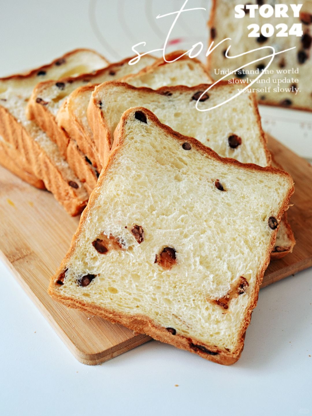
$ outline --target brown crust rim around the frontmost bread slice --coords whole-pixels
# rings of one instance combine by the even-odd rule
[[[262,168],[260,166],[257,166],[251,163],[243,164],[231,158],[221,158],[220,156],[218,156],[218,154],[215,153],[215,151],[206,147],[205,145],[203,145],[201,142],[194,139],[193,137],[183,136],[182,134],[177,133],[176,131],[173,131],[170,127],[164,124],[161,124],[160,121],[157,119],[157,117],[151,111],[143,107],[135,107],[132,109],[128,109],[124,112],[120,120],[119,136],[118,136],[118,141],[116,144],[116,149],[114,149],[114,151],[109,156],[109,161],[106,165],[106,168],[104,168],[102,170],[102,173],[100,174],[97,188],[95,188],[95,190],[92,192],[87,208],[82,213],[79,226],[77,228],[76,233],[74,234],[72,238],[71,247],[69,248],[69,251],[67,255],[65,256],[64,260],[62,261],[62,264],[57,270],[56,274],[51,278],[48,292],[53,297],[53,299],[57,300],[58,302],[63,303],[64,305],[68,307],[74,307],[84,312],[99,314],[103,318],[109,319],[112,322],[118,322],[122,325],[125,325],[126,327],[130,329],[133,329],[134,331],[149,334],[154,339],[158,339],[159,341],[167,342],[168,344],[172,344],[178,348],[186,349],[187,351],[194,352],[200,355],[201,357],[208,359],[210,361],[217,362],[219,364],[225,364],[225,365],[233,364],[239,359],[240,354],[243,350],[245,331],[248,327],[248,324],[250,323],[251,313],[253,309],[255,308],[255,306],[257,305],[259,287],[262,282],[264,272],[270,262],[270,252],[272,251],[272,248],[274,247],[274,244],[275,244],[277,229],[273,230],[272,232],[271,243],[265,255],[263,266],[257,273],[256,283],[255,283],[255,293],[253,297],[250,297],[250,301],[249,301],[249,304],[245,313],[245,318],[243,319],[242,325],[240,327],[240,332],[238,336],[238,344],[237,344],[236,349],[232,353],[225,351],[224,349],[218,349],[215,346],[203,344],[200,340],[197,340],[197,339],[183,337],[182,335],[173,336],[169,334],[165,328],[159,327],[147,316],[120,314],[111,310],[106,310],[105,308],[98,307],[96,305],[88,304],[87,302],[81,302],[79,300],[66,297],[64,295],[59,294],[57,291],[55,291],[55,282],[57,281],[59,274],[64,270],[64,268],[66,268],[68,259],[74,253],[74,250],[77,245],[78,236],[80,234],[80,231],[82,230],[82,226],[84,222],[87,220],[87,215],[89,214],[89,211],[92,210],[95,204],[98,189],[102,185],[107,171],[109,170],[111,165],[114,163],[116,155],[118,154],[121,147],[123,146],[125,122],[127,118],[129,117],[129,115],[133,113],[134,111],[143,111],[152,122],[154,122],[159,128],[163,129],[163,131],[166,134],[169,134],[173,139],[176,139],[177,141],[180,141],[181,143],[184,143],[185,141],[187,141],[188,143],[192,145],[192,147],[194,147],[195,149],[197,149],[203,154],[207,154],[208,156],[214,158],[217,161],[223,161],[227,163],[228,165],[234,165],[242,169],[251,169],[253,171],[261,171],[261,172],[266,171],[266,172],[272,172],[272,173],[279,173],[280,175],[284,176],[285,178],[287,178],[287,181],[289,183],[289,191],[287,193],[287,196],[285,196],[285,200],[280,208],[280,212],[277,214],[278,221],[280,221],[282,214],[289,207],[290,197],[292,196],[292,193],[294,192],[294,185],[293,185],[292,178],[288,173],[284,171],[280,171],[280,169],[273,168],[272,166]],[[191,348],[191,344],[202,345],[203,347],[207,348],[209,351],[218,352],[218,355],[207,354],[201,351],[200,349],[195,350]]]

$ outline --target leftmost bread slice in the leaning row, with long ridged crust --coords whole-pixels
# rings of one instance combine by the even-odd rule
[[[103,67],[106,60],[97,52],[78,49],[51,64],[0,79],[0,135],[15,149],[27,173],[45,183],[68,213],[77,215],[86,206],[88,194],[64,161],[57,145],[37,124],[27,120],[25,107],[40,79],[59,79]],[[16,171],[17,173],[17,171]]]

